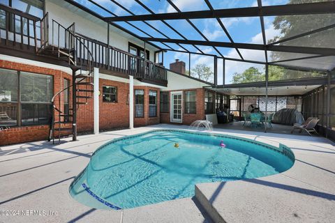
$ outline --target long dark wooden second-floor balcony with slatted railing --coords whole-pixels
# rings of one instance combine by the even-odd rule
[[[141,82],[161,86],[168,84],[167,71],[160,64],[80,33],[75,33],[76,40],[70,40],[71,35],[68,35],[68,32],[74,32],[74,27],[75,24],[65,28],[54,20],[49,21],[47,14],[40,20],[38,17],[0,4],[0,47],[3,48],[1,52],[4,54],[61,65],[66,63],[59,58],[56,59],[57,54],[45,49],[61,49],[62,52],[69,52],[73,56],[72,59],[81,61],[81,64],[85,64],[91,54],[94,66],[100,68],[103,73],[126,78],[132,75]]]

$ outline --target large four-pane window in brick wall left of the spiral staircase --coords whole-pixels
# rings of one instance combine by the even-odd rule
[[[52,86],[49,75],[0,69],[0,126],[50,123]]]

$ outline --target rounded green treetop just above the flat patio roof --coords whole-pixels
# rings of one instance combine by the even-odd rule
[[[261,72],[260,70],[258,70],[258,68],[255,67],[250,67],[241,73],[235,72],[234,75],[232,75],[233,84],[262,82],[262,81],[265,81],[265,73]]]

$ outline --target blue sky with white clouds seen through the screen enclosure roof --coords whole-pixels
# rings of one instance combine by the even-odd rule
[[[86,4],[92,10],[98,11],[103,16],[112,16],[110,13],[103,12],[101,9],[98,9],[93,4],[84,0],[77,0],[80,3]],[[131,15],[126,10],[112,3],[110,0],[95,0],[97,3],[100,3],[102,6],[112,11],[118,16],[122,15]],[[166,1],[166,0],[141,0],[150,10],[154,13],[176,13],[177,11]],[[244,8],[251,6],[258,6],[257,0],[209,0],[214,9],[221,8]],[[126,9],[131,10],[135,15],[147,15],[150,14],[148,10],[140,6],[134,0],[117,0],[122,6]],[[209,10],[204,0],[172,0],[172,2],[181,10],[182,12],[191,11],[191,10]],[[274,6],[288,3],[288,0],[262,0],[263,6]],[[274,29],[272,24],[274,17],[264,17],[265,20],[265,33],[267,41],[274,38],[274,36],[280,36],[280,31]],[[221,18],[226,29],[232,40],[235,43],[256,43],[262,44],[262,30],[260,25],[260,17],[240,17],[240,18]],[[204,40],[200,34],[195,31],[195,29],[186,22],[186,20],[166,20],[170,26],[179,31],[185,38],[189,40]],[[222,42],[230,42],[228,36],[226,36],[225,32],[218,24],[216,19],[197,19],[191,20],[195,26],[211,41],[222,41]],[[149,35],[156,38],[165,38],[161,33],[154,31],[144,22],[131,22],[138,28],[142,29]],[[170,29],[166,24],[163,24],[161,21],[148,21],[149,24],[154,26],[159,31],[162,31],[169,38],[181,39],[182,37],[175,33],[172,29]],[[117,22],[117,24],[124,26],[129,31],[136,33],[138,36],[149,37],[145,33],[138,31],[137,29],[129,26],[125,22]],[[159,47],[167,48],[161,43],[155,43]],[[179,45],[173,43],[167,43],[170,47],[178,50],[184,50]],[[192,45],[182,45],[186,49],[191,52],[199,52],[198,49],[193,47]],[[207,54],[218,54],[213,47],[207,46],[198,46],[203,52]],[[240,59],[237,51],[232,48],[223,48],[217,47],[218,51],[223,54],[225,57]],[[239,49],[244,59],[253,60],[253,61],[265,61],[265,53],[260,50],[251,50],[251,49]],[[270,52],[271,54],[271,52]],[[188,54],[180,53],[180,52],[167,52],[164,57],[164,66],[169,68],[169,64],[174,61],[174,59],[179,59],[181,61],[186,62],[186,70],[188,70]],[[213,56],[202,56],[193,54],[191,56],[191,70],[192,68],[198,64],[204,63],[206,66],[210,68],[214,68],[214,59]],[[258,67],[260,69],[264,69],[264,66],[258,65],[255,63],[244,63],[238,61],[226,61],[225,62],[225,84],[229,84],[232,81],[232,75],[234,72],[243,72],[246,68],[250,66]],[[223,84],[223,62],[222,60],[218,61],[218,84]]]

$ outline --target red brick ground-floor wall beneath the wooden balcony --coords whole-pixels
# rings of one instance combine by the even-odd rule
[[[24,63],[0,60],[0,68],[34,72],[41,75],[53,76],[53,94],[64,89],[64,79],[72,82],[72,75],[61,70],[31,66]],[[103,86],[117,87],[117,102],[103,102]],[[99,125],[100,130],[112,130],[115,128],[127,128],[129,126],[129,84],[116,82],[109,79],[99,79]],[[144,118],[134,118],[134,125],[154,125],[160,123],[160,89],[150,86],[134,86],[134,89],[144,89]],[[149,90],[157,91],[157,116],[149,117]],[[91,95],[89,93],[89,95]],[[135,91],[134,91],[135,98]],[[58,100],[58,98],[57,98]],[[83,100],[83,99],[82,99]],[[70,90],[69,103],[72,103],[72,89]],[[84,100],[83,100],[84,101]],[[61,94],[61,109],[64,105],[64,95]],[[94,102],[93,98],[87,100],[87,105],[80,105],[77,110],[77,132],[93,132],[94,129]],[[135,110],[135,109],[134,109]],[[58,121],[58,116],[55,116]],[[61,124],[61,127],[70,127],[71,124]],[[57,126],[56,126],[57,127]],[[66,132],[64,132],[66,134]],[[27,141],[46,140],[49,134],[49,125],[24,125],[13,126],[8,130],[0,131],[0,146],[17,144]]]

